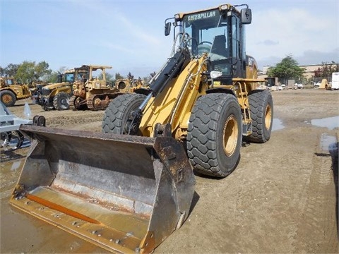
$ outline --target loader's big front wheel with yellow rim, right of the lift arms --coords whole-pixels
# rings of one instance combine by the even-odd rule
[[[189,119],[187,154],[194,169],[216,177],[229,175],[240,159],[242,112],[233,95],[198,98]]]

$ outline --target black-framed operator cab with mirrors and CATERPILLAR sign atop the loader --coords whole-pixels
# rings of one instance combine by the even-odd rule
[[[246,52],[244,24],[251,23],[251,10],[246,6],[240,12],[230,4],[194,13],[174,16],[174,28],[189,35],[191,55],[208,54],[210,70],[222,73],[221,78],[245,78]],[[165,25],[169,34],[170,23]]]

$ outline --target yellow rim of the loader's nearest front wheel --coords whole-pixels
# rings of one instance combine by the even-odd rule
[[[234,116],[228,116],[223,130],[223,147],[227,157],[231,157],[237,148],[238,123]]]

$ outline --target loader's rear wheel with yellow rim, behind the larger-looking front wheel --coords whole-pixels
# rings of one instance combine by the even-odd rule
[[[244,140],[265,143],[270,139],[273,125],[273,99],[268,90],[256,90],[249,95],[252,133]]]

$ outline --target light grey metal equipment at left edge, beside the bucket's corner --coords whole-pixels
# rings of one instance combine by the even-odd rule
[[[0,102],[1,147],[18,149],[23,145],[25,137],[18,131],[19,127],[21,124],[32,124],[32,120],[29,119],[30,106],[27,102],[25,102],[24,114],[27,117],[26,119],[19,118],[7,109],[3,102]]]

